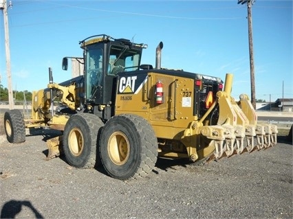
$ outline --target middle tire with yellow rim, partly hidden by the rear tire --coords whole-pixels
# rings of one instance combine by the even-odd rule
[[[67,162],[76,168],[94,168],[98,132],[104,124],[89,113],[72,115],[63,132],[63,150]]]

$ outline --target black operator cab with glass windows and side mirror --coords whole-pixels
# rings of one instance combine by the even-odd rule
[[[80,41],[84,50],[85,104],[96,114],[95,106],[109,106],[115,100],[117,74],[140,69],[142,49],[147,45],[136,44],[105,34],[90,36]],[[67,58],[63,69],[67,69]]]

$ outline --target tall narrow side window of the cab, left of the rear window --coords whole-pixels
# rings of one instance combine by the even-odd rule
[[[98,86],[102,83],[102,49],[87,50],[87,98],[93,99]]]

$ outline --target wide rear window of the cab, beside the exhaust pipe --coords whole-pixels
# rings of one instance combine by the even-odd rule
[[[113,45],[110,50],[108,74],[116,75],[121,71],[138,70],[140,54],[140,50]]]

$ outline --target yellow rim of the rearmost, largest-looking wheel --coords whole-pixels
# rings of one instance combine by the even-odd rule
[[[129,159],[129,140],[122,132],[113,132],[108,141],[108,154],[113,163],[123,165]]]

